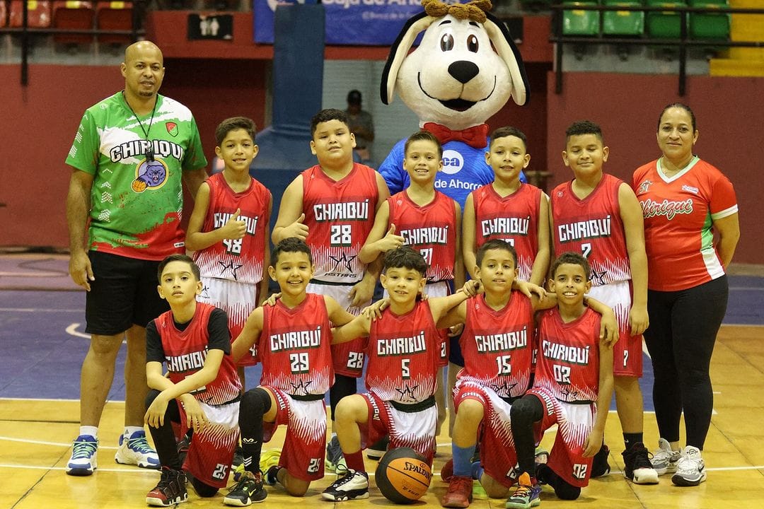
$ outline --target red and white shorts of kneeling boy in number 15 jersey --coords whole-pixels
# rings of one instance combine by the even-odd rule
[[[512,404],[500,398],[491,388],[470,380],[458,380],[454,388],[454,408],[457,413],[459,404],[465,399],[474,399],[483,404],[483,422],[478,427],[478,437],[484,471],[510,488],[517,480],[514,469],[517,454],[510,424]]]

